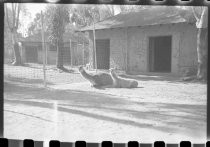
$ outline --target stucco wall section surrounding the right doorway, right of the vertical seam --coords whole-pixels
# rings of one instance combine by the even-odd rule
[[[197,60],[196,27],[190,24],[157,25],[129,29],[128,46],[131,48],[129,52],[131,71],[136,67],[138,71],[148,71],[149,37],[167,35],[172,36],[171,72],[181,73],[183,68],[195,66]]]

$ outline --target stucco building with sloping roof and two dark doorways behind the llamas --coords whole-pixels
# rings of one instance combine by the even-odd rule
[[[180,74],[197,66],[197,29],[189,10],[168,6],[120,13],[97,22],[95,30],[98,69]],[[93,42],[93,26],[80,31],[89,32]]]

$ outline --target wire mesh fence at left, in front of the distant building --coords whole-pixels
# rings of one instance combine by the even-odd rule
[[[50,44],[45,44],[46,56],[43,56],[41,43],[23,43],[20,49],[21,66],[13,66],[13,53],[5,48],[4,57],[4,80],[25,82],[29,84],[43,85],[45,64],[47,84],[72,83],[83,81],[78,74],[77,67],[89,63],[89,44],[69,41],[64,43],[63,64],[66,71],[56,68],[57,49]],[[43,58],[45,58],[43,60]]]

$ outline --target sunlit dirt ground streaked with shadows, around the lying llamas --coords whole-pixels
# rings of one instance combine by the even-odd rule
[[[31,72],[36,74],[34,78]],[[95,89],[77,72],[49,70],[51,79],[48,77],[48,86],[43,88],[40,68],[5,65],[4,73],[6,138],[206,141],[205,83],[142,73],[126,76],[138,80],[138,88]]]

